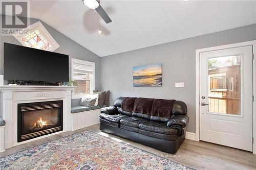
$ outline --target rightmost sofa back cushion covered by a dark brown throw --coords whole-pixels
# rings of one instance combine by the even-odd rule
[[[172,115],[175,100],[154,99],[150,119],[166,123]]]

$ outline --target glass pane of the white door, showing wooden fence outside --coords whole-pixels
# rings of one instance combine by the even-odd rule
[[[209,112],[241,115],[241,55],[208,59]]]

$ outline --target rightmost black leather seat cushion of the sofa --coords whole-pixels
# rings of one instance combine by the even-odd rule
[[[166,126],[165,123],[153,122],[153,121],[141,123],[139,125],[139,129],[142,129],[145,131],[150,131],[150,132],[166,134],[166,135],[178,135],[179,134],[179,131],[177,129],[169,128]]]

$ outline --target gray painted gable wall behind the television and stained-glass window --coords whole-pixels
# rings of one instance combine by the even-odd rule
[[[33,24],[37,21],[39,20],[31,18],[30,23]],[[69,55],[70,79],[71,79],[71,58],[95,62],[95,79],[96,79],[95,89],[96,90],[99,89],[100,88],[100,76],[99,76],[100,57],[92,53],[91,51],[87,50],[87,48],[84,48],[83,46],[79,45],[78,43],[68,38],[67,36],[63,35],[62,33],[58,32],[51,26],[47,25],[47,23],[42,21],[41,23],[42,25],[45,26],[45,28],[49,31],[49,33],[60,45],[60,47],[54,52]],[[4,42],[21,45],[13,36],[0,37],[0,75],[3,75],[4,73]]]

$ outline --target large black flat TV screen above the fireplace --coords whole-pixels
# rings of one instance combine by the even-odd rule
[[[69,56],[4,43],[4,79],[68,82]]]

